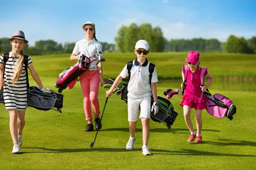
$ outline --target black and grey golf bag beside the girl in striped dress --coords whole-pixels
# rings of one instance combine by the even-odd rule
[[[44,93],[36,86],[29,87],[27,91],[27,104],[41,111],[54,110],[61,113],[63,107],[63,94]]]

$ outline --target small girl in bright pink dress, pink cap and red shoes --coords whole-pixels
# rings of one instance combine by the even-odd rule
[[[190,51],[186,62],[188,63],[189,69],[187,72],[186,84],[181,83],[181,88],[185,88],[186,91],[184,96],[182,97],[182,101],[180,105],[183,107],[183,115],[190,130],[190,135],[188,142],[194,141],[196,138],[196,143],[202,143],[202,110],[207,107],[206,99],[207,97],[203,95],[201,99],[202,91],[206,91],[207,88],[212,84],[214,77],[212,74],[205,72],[204,76],[207,77],[209,80],[205,86],[201,85],[201,67],[199,61],[200,54],[197,51]],[[182,79],[184,82],[184,70],[182,67]],[[197,127],[197,134],[195,134],[195,130],[193,127],[192,119],[190,118],[191,108],[195,108],[195,120],[196,120],[196,127]]]

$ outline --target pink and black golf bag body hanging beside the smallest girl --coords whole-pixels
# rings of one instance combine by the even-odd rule
[[[231,99],[221,95],[221,94],[206,94],[207,96],[207,112],[212,116],[217,118],[223,118],[226,116],[228,119],[232,120],[233,115],[236,113],[236,106],[233,105]]]

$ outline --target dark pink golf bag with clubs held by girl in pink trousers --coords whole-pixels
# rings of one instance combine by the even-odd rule
[[[58,92],[61,93],[67,87],[69,89],[73,88],[76,84],[77,78],[87,71],[93,61],[95,61],[97,65],[99,61],[105,61],[105,59],[100,57],[99,54],[102,53],[100,51],[96,51],[90,57],[86,57],[82,54],[81,58],[75,65],[62,71],[55,83],[55,87],[58,88]]]

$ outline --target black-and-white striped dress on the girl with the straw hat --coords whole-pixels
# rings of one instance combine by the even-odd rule
[[[17,82],[12,84],[12,76],[14,74],[15,62],[18,57],[9,55],[6,62],[4,72],[5,86],[3,88],[3,99],[6,109],[25,110],[27,107],[27,87],[26,87],[26,68],[25,64],[22,67],[22,73]],[[0,65],[3,65],[3,54],[0,57]],[[28,66],[32,64],[32,60],[28,57]]]

